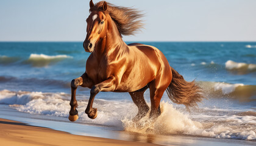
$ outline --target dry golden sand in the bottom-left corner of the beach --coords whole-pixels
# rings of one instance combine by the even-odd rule
[[[77,136],[50,128],[35,127],[13,120],[0,119],[2,145],[157,145],[119,141],[90,136]]]

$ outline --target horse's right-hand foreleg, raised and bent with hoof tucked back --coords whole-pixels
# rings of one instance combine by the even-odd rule
[[[98,83],[97,85],[94,85],[91,88],[90,92],[90,99],[87,105],[87,108],[85,109],[85,113],[90,117],[91,119],[95,119],[97,117],[97,108],[93,108],[93,100],[94,97],[100,92],[100,91],[114,91],[115,89],[115,77],[110,77],[104,82]]]

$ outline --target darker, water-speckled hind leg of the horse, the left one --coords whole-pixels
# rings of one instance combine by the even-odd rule
[[[132,97],[133,102],[135,105],[138,106],[138,114],[133,117],[133,122],[137,122],[140,120],[142,117],[146,116],[146,114],[149,111],[149,106],[147,105],[145,99],[144,99],[144,92],[146,91],[148,87],[140,89],[135,92],[129,92],[130,97]]]

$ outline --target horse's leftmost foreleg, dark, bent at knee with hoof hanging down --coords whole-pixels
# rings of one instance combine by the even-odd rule
[[[83,74],[81,77],[73,79],[71,81],[71,100],[69,105],[71,106],[71,109],[69,111],[69,117],[68,119],[72,122],[76,121],[78,119],[78,112],[76,110],[77,108],[77,100],[76,100],[76,89],[78,86],[84,86],[89,87],[91,85],[90,78],[88,78],[87,74]]]

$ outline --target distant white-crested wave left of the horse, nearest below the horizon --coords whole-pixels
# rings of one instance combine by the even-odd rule
[[[68,55],[44,55],[44,54],[30,54],[29,59],[26,63],[32,64],[35,67],[44,67],[49,64],[54,64],[59,61],[65,60],[66,58],[73,58]]]

